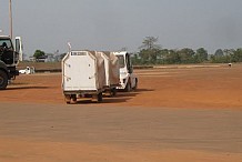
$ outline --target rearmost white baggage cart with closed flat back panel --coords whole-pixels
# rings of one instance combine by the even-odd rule
[[[80,98],[102,101],[104,60],[95,51],[70,51],[62,59],[62,89],[67,103]]]

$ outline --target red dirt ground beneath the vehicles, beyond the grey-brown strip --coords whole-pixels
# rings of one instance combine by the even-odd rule
[[[137,70],[139,89],[105,98],[101,105],[144,108],[242,108],[242,65]],[[60,73],[20,75],[1,101],[64,104]],[[80,102],[82,103],[82,102]],[[84,104],[93,104],[83,102]],[[100,107],[100,104],[99,104]]]

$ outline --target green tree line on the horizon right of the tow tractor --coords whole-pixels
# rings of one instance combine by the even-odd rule
[[[232,63],[242,62],[242,48],[239,49],[218,49],[214,54],[209,54],[204,48],[196,50],[183,49],[162,49],[157,44],[158,38],[147,37],[140,51],[133,53],[133,64],[188,64],[188,63]]]

